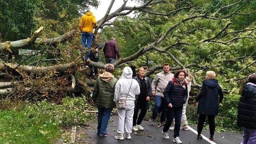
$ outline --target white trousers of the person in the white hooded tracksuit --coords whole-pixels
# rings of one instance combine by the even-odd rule
[[[133,113],[134,113],[134,102],[126,103],[125,109],[117,109],[117,114],[118,114],[117,133],[118,134],[124,134],[124,131],[126,133],[132,133]]]

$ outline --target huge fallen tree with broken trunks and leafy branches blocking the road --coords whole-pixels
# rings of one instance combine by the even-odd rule
[[[223,66],[227,62],[233,61],[234,63],[240,62],[240,60],[251,60],[248,65],[239,66],[240,70],[237,71],[237,74],[243,72],[247,66],[255,65],[256,61],[252,59],[255,58],[253,53],[250,52],[250,55],[246,54],[244,57],[236,57],[233,59],[223,58],[227,53],[233,53],[233,51],[227,49],[223,51],[214,51],[214,53],[208,55],[208,57],[215,65],[209,64],[206,58],[207,56],[202,56],[202,52],[196,53],[197,50],[204,49],[204,46],[213,47],[232,47],[237,45],[237,43],[246,40],[255,41],[255,26],[250,25],[242,30],[233,30],[230,28],[231,22],[229,19],[232,19],[234,15],[240,15],[238,13],[243,7],[249,4],[249,1],[240,1],[239,3],[234,3],[221,6],[217,11],[209,12],[204,7],[200,7],[196,4],[193,4],[189,1],[177,0],[174,3],[170,3],[168,0],[149,0],[142,3],[139,6],[128,7],[126,6],[128,0],[124,0],[123,5],[120,6],[116,11],[110,13],[110,10],[113,6],[115,0],[112,0],[108,11],[105,16],[100,19],[98,23],[98,27],[95,29],[94,34],[100,35],[98,33],[99,29],[104,29],[105,27],[114,25],[114,22],[110,20],[115,17],[128,15],[133,11],[139,12],[142,18],[144,19],[166,19],[173,18],[176,16],[177,18],[172,22],[166,24],[165,28],[161,29],[161,33],[154,32],[151,30],[152,28],[148,28],[148,33],[150,33],[151,38],[147,44],[140,45],[137,51],[133,52],[127,57],[122,57],[120,60],[114,62],[115,68],[123,68],[127,65],[127,62],[135,61],[139,57],[145,56],[149,53],[157,53],[159,58],[168,57],[173,61],[173,67],[170,69],[171,71],[176,71],[178,69],[183,68],[191,68],[194,69],[192,72],[196,75],[197,72],[202,72],[208,69],[214,69]],[[172,11],[170,12],[156,12],[157,5],[163,5],[166,7],[172,6]],[[171,5],[171,6],[170,6]],[[222,14],[221,10],[225,8],[230,8],[236,5],[237,9],[231,9],[227,14]],[[186,12],[185,15],[182,15],[182,12]],[[167,21],[167,20],[166,20]],[[211,29],[212,27],[207,27],[203,24],[198,24],[197,21],[209,22],[209,23],[220,23],[217,28]],[[189,23],[193,23],[192,28],[188,25]],[[146,27],[145,25],[144,27]],[[149,27],[149,26],[148,26]],[[73,29],[63,35],[59,35],[55,38],[38,38],[39,34],[42,33],[43,27],[40,27],[38,30],[34,32],[34,34],[27,39],[21,39],[18,41],[5,41],[0,43],[0,51],[2,54],[12,53],[14,50],[19,48],[26,48],[28,46],[34,46],[33,50],[37,50],[38,48],[44,47],[43,50],[34,54],[33,56],[38,56],[39,54],[44,55],[45,53],[51,51],[52,53],[59,53],[60,50],[56,51],[54,47],[58,47],[58,45],[64,45],[64,42],[72,41],[72,39],[78,38],[80,32],[78,29]],[[215,30],[215,31],[214,31]],[[211,33],[207,35],[207,37],[196,37],[196,33]],[[182,34],[179,36],[178,34]],[[195,37],[196,41],[193,41],[192,38]],[[181,39],[182,38],[182,39]],[[170,42],[169,42],[170,41]],[[42,46],[42,47],[40,47]],[[53,49],[51,49],[53,46]],[[70,46],[77,47],[79,49],[80,46]],[[94,45],[92,46],[94,47]],[[194,49],[195,53],[189,53],[188,49]],[[236,51],[236,50],[234,50]],[[186,61],[184,57],[189,57],[190,55],[196,55],[201,58],[200,61]],[[182,56],[183,55],[183,56]],[[218,55],[218,57],[217,57]],[[65,54],[60,60],[65,59]],[[42,59],[37,60],[36,62],[32,62],[31,65],[25,65],[25,60],[15,63],[10,61],[0,61],[0,79],[3,77],[10,77],[10,79],[14,80],[14,82],[6,82],[2,83],[3,86],[0,85],[0,95],[4,96],[14,96],[19,95],[27,96],[27,98],[42,96],[43,98],[53,98],[54,96],[62,97],[65,95],[72,95],[72,93],[82,93],[84,95],[89,95],[91,92],[91,88],[94,85],[95,80],[87,79],[88,68],[82,67],[82,65],[88,65],[93,67],[98,67],[99,69],[104,68],[104,64],[101,62],[86,62],[84,63],[80,60],[79,54],[73,54],[74,61],[63,61],[57,62],[57,64],[50,65],[40,65],[37,66],[38,62],[43,61]],[[182,57],[181,57],[182,56]],[[202,58],[203,57],[203,58]],[[216,58],[217,57],[217,58]],[[56,59],[56,58],[54,58]],[[210,60],[208,60],[210,61]],[[81,65],[82,64],[82,65]],[[147,76],[154,74],[162,69],[162,64],[158,63],[147,69]],[[239,79],[238,77],[237,79]],[[232,78],[228,78],[226,82],[230,82]],[[193,86],[200,87],[200,84],[197,84],[196,79],[193,79]],[[54,95],[54,96],[53,96]]]

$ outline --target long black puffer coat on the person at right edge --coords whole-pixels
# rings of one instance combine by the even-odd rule
[[[256,129],[256,87],[245,84],[238,104],[237,125]]]

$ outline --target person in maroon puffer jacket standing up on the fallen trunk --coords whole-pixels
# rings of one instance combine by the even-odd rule
[[[105,43],[103,52],[105,54],[106,63],[113,64],[116,60],[116,55],[119,59],[121,59],[121,55],[116,43],[116,38],[114,37]]]

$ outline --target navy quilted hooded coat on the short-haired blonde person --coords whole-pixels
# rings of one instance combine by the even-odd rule
[[[197,114],[218,115],[219,103],[221,103],[222,100],[223,93],[218,80],[204,80],[200,94],[196,98],[196,101],[199,101]]]

